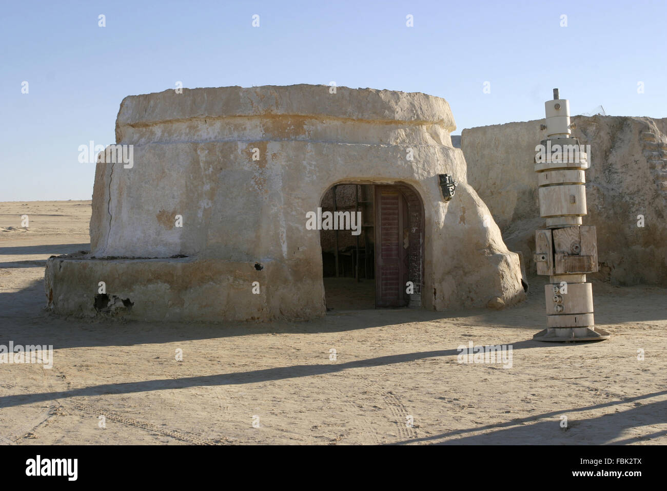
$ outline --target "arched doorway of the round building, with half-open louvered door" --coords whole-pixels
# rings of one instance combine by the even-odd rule
[[[321,220],[327,311],[420,307],[424,205],[412,186],[340,182],[324,193],[320,208],[323,218],[338,217]]]

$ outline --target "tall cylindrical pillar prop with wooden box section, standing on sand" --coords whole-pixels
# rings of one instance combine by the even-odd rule
[[[544,103],[546,140],[536,147],[540,216],[544,228],[535,232],[538,275],[549,277],[545,285],[547,328],[533,336],[538,341],[593,341],[609,333],[595,327],[593,291],[586,274],[598,271],[598,245],[594,226],[582,225],[586,215],[588,153],[572,138],[570,102]],[[588,147],[587,147],[588,148]]]

